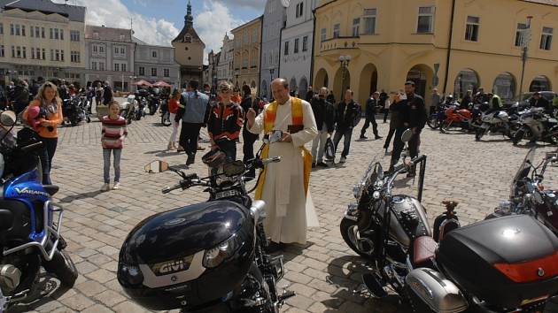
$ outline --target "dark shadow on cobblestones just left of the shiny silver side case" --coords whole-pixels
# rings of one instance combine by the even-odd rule
[[[339,300],[362,303],[361,305],[370,309],[370,312],[411,313],[410,308],[400,303],[399,295],[393,294],[391,290],[388,291],[390,294],[383,299],[374,298],[366,291],[360,292],[362,286],[360,277],[370,271],[369,265],[367,260],[360,256],[341,256],[331,260],[327,280],[329,284],[338,288],[331,296]],[[338,302],[337,299],[329,299],[322,303],[332,308],[331,312],[333,312],[333,309],[337,309],[335,306]]]

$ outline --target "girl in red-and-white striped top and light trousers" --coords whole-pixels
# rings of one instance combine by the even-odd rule
[[[101,187],[101,191],[110,189],[111,154],[114,156],[112,164],[114,166],[114,186],[112,189],[120,187],[120,155],[122,154],[124,137],[128,135],[128,129],[126,128],[126,119],[120,117],[119,113],[120,104],[112,101],[109,103],[109,115],[102,119],[101,144],[103,145],[105,184]]]

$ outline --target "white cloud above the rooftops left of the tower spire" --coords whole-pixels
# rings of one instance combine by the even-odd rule
[[[64,3],[64,0],[54,0]],[[86,22],[90,25],[128,28],[130,19],[134,22],[134,35],[150,44],[170,46],[170,42],[179,33],[179,29],[166,19],[155,19],[129,11],[120,0],[105,0],[102,5],[90,5],[90,1],[77,0],[78,5],[87,6]],[[89,5],[88,5],[89,4]]]

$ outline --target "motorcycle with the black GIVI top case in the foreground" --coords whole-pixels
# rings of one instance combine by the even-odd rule
[[[117,277],[130,298],[154,310],[277,313],[294,293],[277,292],[283,256],[267,255],[265,202],[252,202],[244,175],[279,160],[226,162],[213,166],[205,178],[162,161],[147,164],[146,172],[172,171],[181,177],[164,194],[199,186],[210,196],[208,202],[146,218],[128,234]]]

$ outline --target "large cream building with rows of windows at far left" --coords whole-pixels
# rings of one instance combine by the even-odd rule
[[[0,0],[0,81],[42,76],[83,84],[85,12],[50,0]]]

